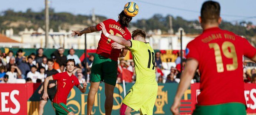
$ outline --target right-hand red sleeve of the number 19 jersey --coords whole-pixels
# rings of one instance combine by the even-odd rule
[[[256,55],[256,48],[253,47],[245,38],[243,43],[243,55],[252,59]]]

